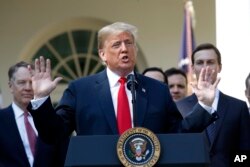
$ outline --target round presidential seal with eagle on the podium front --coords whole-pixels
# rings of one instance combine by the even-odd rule
[[[160,142],[150,130],[142,127],[125,131],[117,142],[117,155],[126,167],[151,167],[160,157]]]

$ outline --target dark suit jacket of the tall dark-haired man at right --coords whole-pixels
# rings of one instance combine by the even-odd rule
[[[190,113],[197,102],[193,94],[177,102],[183,116]],[[239,99],[219,93],[215,139],[210,146],[212,167],[230,166],[230,154],[250,151],[250,119],[247,104]],[[205,134],[205,132],[204,132]]]

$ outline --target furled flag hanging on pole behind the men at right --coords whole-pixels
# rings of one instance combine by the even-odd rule
[[[192,81],[191,55],[195,48],[194,27],[195,12],[193,2],[186,0],[184,5],[183,31],[181,39],[181,51],[178,66],[187,74],[188,83]],[[188,90],[189,93],[190,90]]]

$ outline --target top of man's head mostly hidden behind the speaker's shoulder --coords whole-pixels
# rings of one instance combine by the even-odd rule
[[[159,80],[159,81],[161,81],[163,83],[168,84],[166,76],[165,76],[163,70],[161,68],[159,68],[159,67],[149,67],[149,68],[146,68],[142,72],[142,75],[150,77],[150,78],[153,78],[153,79],[156,79],[156,80]]]

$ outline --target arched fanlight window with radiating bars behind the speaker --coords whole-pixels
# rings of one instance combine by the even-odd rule
[[[65,21],[41,31],[24,49],[22,60],[30,62],[41,55],[50,58],[52,77],[63,77],[52,94],[53,101],[60,99],[70,81],[105,68],[98,56],[97,31],[106,24],[86,18]],[[137,60],[136,70],[143,70],[147,65],[140,47]]]

